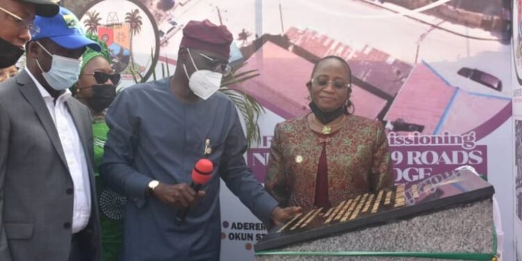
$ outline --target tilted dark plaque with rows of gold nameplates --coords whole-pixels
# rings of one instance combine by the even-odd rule
[[[269,231],[255,251],[281,248],[492,198],[493,186],[467,168],[432,175],[330,208],[310,209]]]

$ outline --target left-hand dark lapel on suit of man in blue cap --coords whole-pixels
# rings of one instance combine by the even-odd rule
[[[28,69],[25,69],[28,70]],[[17,83],[19,84],[19,90],[24,95],[26,100],[33,106],[33,109],[42,122],[42,125],[51,139],[53,143],[54,149],[60,155],[60,159],[63,161],[65,168],[68,168],[67,160],[65,159],[65,153],[63,152],[62,144],[60,142],[60,137],[58,136],[58,131],[56,130],[56,125],[54,125],[54,121],[51,118],[51,114],[49,113],[49,109],[47,109],[47,105],[45,105],[45,101],[43,100],[40,91],[38,91],[38,87],[33,82],[33,79],[27,74],[25,70],[22,70],[17,75]]]

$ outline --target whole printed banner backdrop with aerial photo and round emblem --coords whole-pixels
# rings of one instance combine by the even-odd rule
[[[520,157],[507,149],[514,147],[507,137],[514,136],[513,112],[522,112],[517,105],[522,103],[521,36],[513,25],[512,44],[509,33],[510,20],[520,22],[518,0],[514,9],[511,0],[63,3],[79,15],[86,30],[96,29],[111,43],[120,66],[115,69],[125,74],[122,87],[134,84],[133,72],[141,74],[134,73],[136,81],[171,75],[189,20],[228,26],[235,36],[230,62],[246,62],[242,70],[260,73],[232,86],[255,97],[266,110],[259,122],[262,142],[245,155],[260,182],[276,123],[310,111],[305,84],[315,61],[332,54],[345,58],[353,74],[355,114],[386,125],[395,182],[462,165],[475,167],[496,188],[506,242],[503,260],[514,260],[512,228],[522,227],[520,215],[516,219],[514,214],[521,202],[521,179],[514,182],[512,177],[514,166],[519,166],[514,158]],[[266,230],[226,184],[221,189],[221,219],[221,260],[253,260],[253,244]]]

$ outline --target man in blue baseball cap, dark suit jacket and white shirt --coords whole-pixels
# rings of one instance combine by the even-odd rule
[[[101,48],[65,8],[34,24],[26,69],[0,84],[0,260],[100,260],[90,115],[68,88]]]

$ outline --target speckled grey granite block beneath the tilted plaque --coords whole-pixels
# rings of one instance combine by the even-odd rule
[[[255,260],[496,260],[491,200],[255,253]]]

